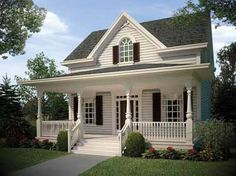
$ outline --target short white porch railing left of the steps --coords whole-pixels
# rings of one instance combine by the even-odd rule
[[[57,137],[62,130],[73,128],[74,122],[68,120],[42,121],[42,136]]]

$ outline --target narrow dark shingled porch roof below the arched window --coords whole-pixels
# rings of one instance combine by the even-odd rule
[[[107,67],[107,68],[100,68],[95,70],[88,70],[88,71],[80,71],[75,73],[69,73],[62,75],[65,76],[76,76],[76,75],[89,75],[89,74],[98,74],[98,73],[111,73],[111,72],[118,72],[118,71],[130,71],[130,70],[141,70],[141,69],[148,69],[148,68],[163,68],[163,67],[172,67],[172,66],[181,66],[186,64],[135,64],[135,65],[127,65],[122,67]]]

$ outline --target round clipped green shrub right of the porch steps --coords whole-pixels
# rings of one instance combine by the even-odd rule
[[[145,150],[145,139],[142,134],[132,132],[128,135],[125,146],[126,156],[139,157]]]

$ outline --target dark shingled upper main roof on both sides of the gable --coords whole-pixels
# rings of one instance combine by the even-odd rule
[[[140,23],[167,47],[208,42],[209,16],[204,16],[191,26],[169,25],[172,18]],[[108,29],[94,31],[83,40],[65,61],[86,58]]]

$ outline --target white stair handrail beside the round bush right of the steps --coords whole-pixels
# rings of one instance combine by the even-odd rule
[[[118,131],[118,137],[120,142],[120,156],[122,156],[124,149],[125,149],[125,142],[130,132],[129,124],[125,123],[121,130]]]

